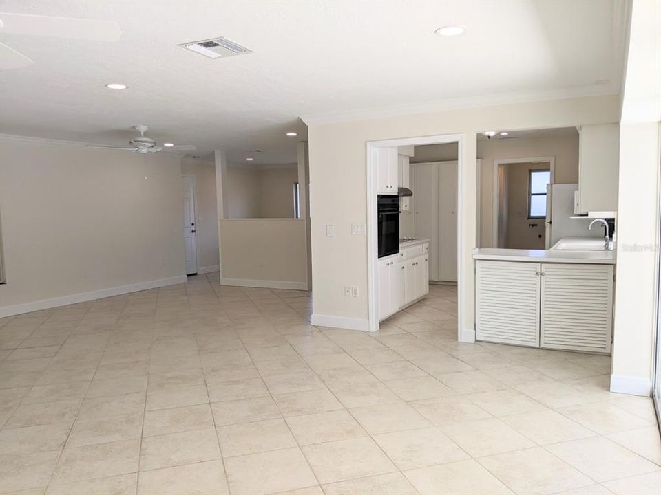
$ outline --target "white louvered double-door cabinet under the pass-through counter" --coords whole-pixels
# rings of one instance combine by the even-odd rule
[[[476,261],[476,339],[610,353],[613,265]]]

